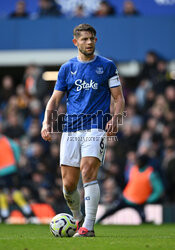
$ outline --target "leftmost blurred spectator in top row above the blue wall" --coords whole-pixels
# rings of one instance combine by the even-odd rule
[[[29,14],[26,11],[26,3],[23,0],[19,0],[16,3],[15,11],[10,14],[11,18],[26,18]]]

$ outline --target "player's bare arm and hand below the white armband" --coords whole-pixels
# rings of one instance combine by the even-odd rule
[[[112,97],[114,98],[114,115],[112,119],[106,124],[107,136],[115,136],[118,132],[118,124],[121,122],[122,113],[125,107],[125,100],[123,97],[122,87],[110,88]]]

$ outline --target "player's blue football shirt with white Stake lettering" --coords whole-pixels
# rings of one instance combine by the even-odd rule
[[[120,85],[115,64],[95,56],[84,62],[78,57],[63,64],[55,90],[67,93],[64,131],[105,129],[110,117],[110,88]]]

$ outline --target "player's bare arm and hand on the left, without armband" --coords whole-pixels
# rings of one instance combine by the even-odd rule
[[[43,126],[41,129],[41,136],[45,141],[51,140],[49,128],[51,126],[50,123],[52,119],[52,114],[55,110],[58,110],[58,106],[63,96],[64,96],[64,91],[54,90],[51,98],[49,99],[47,103],[45,114],[44,114]]]

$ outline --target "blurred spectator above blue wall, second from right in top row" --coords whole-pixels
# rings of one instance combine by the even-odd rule
[[[105,17],[112,16],[115,14],[115,9],[110,4],[107,1],[102,1],[100,2],[98,10],[94,13],[94,16]]]

